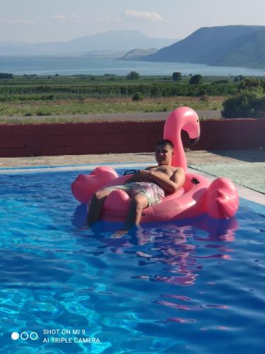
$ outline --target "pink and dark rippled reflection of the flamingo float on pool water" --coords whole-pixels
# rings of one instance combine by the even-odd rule
[[[73,224],[83,227],[86,223],[86,205],[79,205],[73,217]],[[235,217],[228,220],[212,219],[208,215],[178,221],[143,224],[134,227],[119,239],[114,232],[122,224],[98,222],[88,230],[88,236],[110,247],[113,253],[131,253],[139,258],[139,265],[161,263],[165,274],[140,274],[131,278],[167,282],[172,285],[194,285],[203,269],[201,259],[230,259],[231,248],[224,242],[235,240],[238,224]],[[132,246],[139,246],[130,249]],[[100,247],[101,248],[101,247]],[[165,304],[159,301],[160,304]]]

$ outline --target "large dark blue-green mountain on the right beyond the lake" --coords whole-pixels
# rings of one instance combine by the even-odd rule
[[[265,26],[199,28],[184,40],[139,59],[151,62],[265,67]]]

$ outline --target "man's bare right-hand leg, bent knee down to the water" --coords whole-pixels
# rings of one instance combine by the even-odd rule
[[[131,229],[132,226],[140,223],[142,210],[148,207],[148,200],[143,193],[138,193],[131,198],[128,215],[125,219],[126,229]]]

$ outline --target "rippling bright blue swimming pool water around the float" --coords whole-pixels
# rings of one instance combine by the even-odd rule
[[[113,239],[78,173],[0,175],[1,353],[264,353],[265,207]]]

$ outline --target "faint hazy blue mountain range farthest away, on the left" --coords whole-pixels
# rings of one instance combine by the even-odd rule
[[[112,30],[69,42],[0,42],[0,55],[76,55],[93,51],[122,52],[132,48],[165,47],[176,40],[151,38],[137,30]]]

